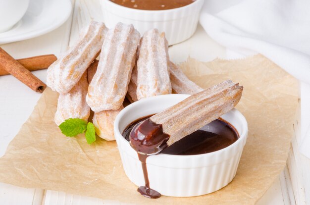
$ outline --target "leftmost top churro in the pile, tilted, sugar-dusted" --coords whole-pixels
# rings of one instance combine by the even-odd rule
[[[106,27],[92,21],[79,42],[59,57],[48,69],[47,85],[58,93],[68,93],[81,79],[101,50]]]

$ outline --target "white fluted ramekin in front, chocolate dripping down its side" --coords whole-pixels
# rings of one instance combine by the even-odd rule
[[[162,95],[142,99],[125,107],[116,117],[114,133],[123,168],[137,186],[145,186],[141,162],[129,142],[121,135],[132,121],[168,108],[189,95]],[[236,175],[248,137],[245,117],[233,109],[221,116],[238,131],[240,138],[232,145],[207,154],[157,154],[147,158],[150,187],[165,196],[192,197],[205,195],[226,186]]]

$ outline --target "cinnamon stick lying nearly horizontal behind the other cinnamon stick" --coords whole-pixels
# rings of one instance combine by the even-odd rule
[[[22,64],[27,70],[35,71],[47,69],[50,65],[57,60],[57,57],[53,54],[49,55],[39,55],[27,58],[16,59],[20,64]],[[9,73],[0,67],[0,76],[9,75]]]

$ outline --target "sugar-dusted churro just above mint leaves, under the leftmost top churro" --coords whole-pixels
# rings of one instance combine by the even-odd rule
[[[87,121],[90,115],[90,107],[86,103],[88,88],[87,71],[79,82],[66,94],[59,94],[55,123],[60,125],[66,119],[80,118]]]

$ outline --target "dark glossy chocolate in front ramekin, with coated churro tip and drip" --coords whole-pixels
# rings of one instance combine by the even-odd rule
[[[142,137],[140,139],[137,138],[134,141],[130,141],[131,146],[136,151],[141,153],[157,153],[158,150],[160,152],[163,148],[165,148],[164,145],[166,145],[166,141],[169,138],[169,135],[162,132],[161,125],[158,125],[150,120],[146,120],[151,116],[152,115],[149,115],[135,120],[125,129],[123,133],[123,137],[127,141],[130,141],[131,137],[134,138],[134,136],[130,136],[131,130],[134,130],[133,133],[135,133],[136,136],[139,136],[138,134],[142,134],[141,136],[147,134],[145,138]],[[143,123],[141,124],[143,125],[143,127],[140,126],[140,128],[143,129],[137,129],[137,125],[139,123]],[[154,127],[156,127],[155,131],[151,132],[151,130],[154,130]],[[145,140],[153,139],[151,138],[151,136],[155,134],[157,135],[158,133],[160,136],[159,139],[157,139],[156,141],[152,140],[154,144],[149,144],[148,146],[148,148],[151,148],[151,152],[147,152],[146,149],[143,149],[144,147],[141,145],[147,144],[148,142]],[[192,134],[182,138],[181,140],[173,143],[171,146],[163,149],[160,153],[173,155],[206,154],[226,148],[229,145],[233,144],[236,140],[238,140],[238,138],[239,134],[237,130],[231,124],[219,118],[210,122],[199,130],[193,132]],[[146,166],[146,159],[148,155],[138,153],[138,157],[142,163],[145,186],[139,187],[137,191],[148,198],[155,199],[160,197],[160,194],[158,192],[150,188],[150,182]]]

